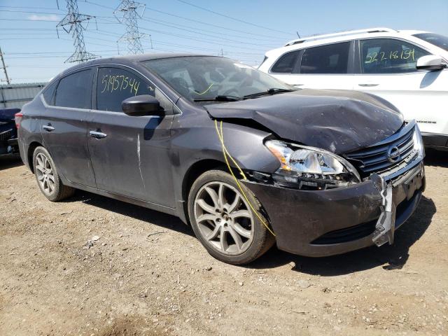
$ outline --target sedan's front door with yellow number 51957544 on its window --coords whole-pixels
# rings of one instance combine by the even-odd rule
[[[124,66],[100,66],[88,146],[97,188],[174,207],[169,161],[173,104],[153,83]],[[158,98],[166,116],[127,116],[123,100],[141,94]]]

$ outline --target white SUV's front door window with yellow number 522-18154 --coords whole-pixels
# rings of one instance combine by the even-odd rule
[[[360,41],[361,73],[416,71],[416,62],[429,52],[405,41],[376,38]]]

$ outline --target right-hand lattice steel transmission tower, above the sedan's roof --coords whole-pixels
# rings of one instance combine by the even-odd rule
[[[126,41],[127,51],[132,54],[143,54],[144,52],[140,39],[148,36],[148,34],[139,33],[137,22],[137,18],[143,17],[144,11],[145,5],[134,0],[122,0],[113,12],[118,22],[126,25],[126,33],[118,38],[117,43]]]

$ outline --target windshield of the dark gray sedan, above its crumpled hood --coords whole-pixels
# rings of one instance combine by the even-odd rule
[[[295,90],[251,66],[224,57],[172,57],[142,63],[192,102],[216,97],[242,99],[269,89]]]

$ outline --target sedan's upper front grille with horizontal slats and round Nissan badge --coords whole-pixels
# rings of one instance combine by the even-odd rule
[[[373,146],[363,148],[359,151],[348,153],[345,156],[351,164],[358,169],[361,177],[366,177],[373,172],[380,173],[400,165],[414,149],[414,123],[407,124],[391,137]],[[390,153],[397,152],[400,155],[391,161]]]

